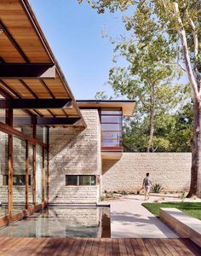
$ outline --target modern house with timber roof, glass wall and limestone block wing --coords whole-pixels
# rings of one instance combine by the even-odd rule
[[[0,226],[95,204],[135,102],[76,101],[27,0],[0,1]]]

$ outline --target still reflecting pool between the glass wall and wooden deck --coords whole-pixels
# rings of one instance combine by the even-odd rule
[[[110,237],[109,207],[48,207],[9,224],[0,236]]]

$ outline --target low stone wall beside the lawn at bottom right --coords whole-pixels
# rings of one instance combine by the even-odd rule
[[[182,237],[201,247],[201,220],[176,208],[160,208],[159,217]]]

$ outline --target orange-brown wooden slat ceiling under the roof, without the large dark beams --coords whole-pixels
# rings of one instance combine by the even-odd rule
[[[55,63],[55,79],[3,79],[0,90],[12,98],[66,98],[72,99],[72,109],[37,109],[42,116],[81,117],[72,92],[63,78],[60,67],[43,36],[27,0],[1,0],[0,21],[20,49],[16,49],[5,32],[0,31],[0,58],[5,62]],[[22,54],[21,54],[22,52]],[[0,59],[1,60],[1,59]],[[36,113],[32,111],[32,113]],[[84,125],[84,121],[83,121]]]

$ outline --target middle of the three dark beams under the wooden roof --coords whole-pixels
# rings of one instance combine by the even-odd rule
[[[71,99],[10,99],[0,100],[0,108],[9,102],[13,109],[69,109],[72,108]]]

